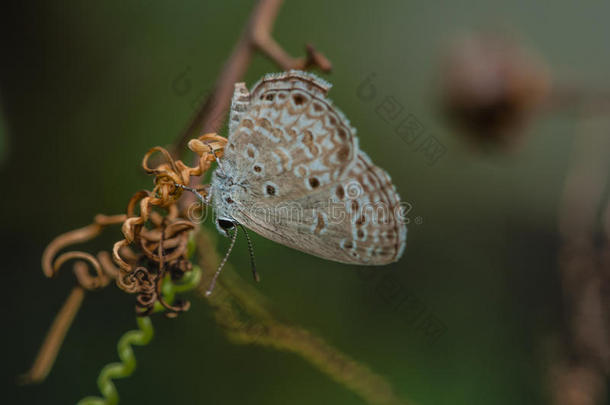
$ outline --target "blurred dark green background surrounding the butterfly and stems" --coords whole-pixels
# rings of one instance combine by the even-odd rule
[[[134,297],[114,286],[87,294],[44,383],[14,384],[74,284],[70,271],[43,276],[42,250],[151,187],[143,153],[169,145],[188,121],[251,8],[244,0],[3,4],[3,403],[98,393],[100,367],[135,325]],[[281,317],[370,366],[405,400],[546,402],[546,342],[562,322],[557,205],[576,117],[535,122],[508,156],[474,153],[438,113],[439,57],[457,33],[501,26],[537,49],[555,77],[608,85],[609,12],[601,1],[287,1],[275,38],[293,55],[311,42],[333,62],[330,96],[413,205],[412,224],[403,259],[372,279],[254,235],[256,288]],[[245,80],[276,70],[259,55]],[[356,90],[371,73],[379,99],[365,102]],[[436,164],[375,112],[385,96],[446,147]],[[84,248],[108,249],[119,237],[113,228]],[[231,262],[250,282],[243,241]],[[437,340],[388,302],[380,284],[388,275],[442,322]],[[136,349],[135,375],[117,383],[122,403],[363,403],[296,355],[230,343],[202,299],[154,322],[154,341]]]

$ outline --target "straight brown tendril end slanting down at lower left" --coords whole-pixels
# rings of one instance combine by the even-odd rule
[[[78,313],[83,298],[85,298],[85,289],[81,286],[74,287],[53,320],[51,328],[47,332],[47,336],[36,355],[34,364],[32,364],[32,367],[27,373],[19,377],[20,383],[38,383],[47,377],[57,358],[57,353],[59,353],[66,333],[68,332],[68,329],[70,329],[70,325]]]

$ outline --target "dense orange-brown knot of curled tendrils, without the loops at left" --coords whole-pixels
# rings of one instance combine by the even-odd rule
[[[170,305],[160,293],[165,274],[177,279],[191,268],[186,253],[195,225],[178,213],[177,201],[183,193],[180,186],[188,187],[191,177],[209,170],[212,162],[222,156],[226,142],[226,138],[216,134],[191,140],[189,148],[199,156],[194,167],[174,160],[167,150],[158,146],[144,155],[142,167],[155,176],[155,187],[151,192],[140,191],[131,198],[127,219],[121,228],[125,238],[112,249],[114,262],[119,266],[117,285],[126,292],[138,294],[141,315],[149,314],[155,302],[167,309],[168,316],[188,309],[188,303]],[[161,154],[163,162],[151,168],[149,160],[156,153]]]

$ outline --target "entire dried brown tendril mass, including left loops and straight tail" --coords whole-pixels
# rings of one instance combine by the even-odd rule
[[[164,280],[179,280],[191,271],[189,261],[189,237],[195,225],[179,213],[177,202],[191,177],[201,176],[210,169],[212,162],[223,155],[226,138],[205,134],[192,139],[188,146],[198,156],[196,165],[189,167],[161,147],[149,150],[142,160],[142,167],[155,176],[152,191],[139,191],[133,195],[124,215],[97,215],[91,225],[76,229],[55,238],[42,256],[42,269],[47,277],[55,276],[66,262],[75,260],[73,271],[77,280],[64,307],[51,325],[34,365],[22,377],[25,383],[42,381],[48,374],[59,347],[82,302],[85,290],[107,286],[110,281],[123,291],[136,294],[136,313],[146,316],[155,308],[165,309],[168,317],[188,310],[187,301],[167,300],[162,293]],[[160,154],[162,162],[151,167],[151,156]],[[200,192],[207,197],[205,190]],[[104,228],[122,224],[124,239],[116,242],[112,256],[99,252],[94,256],[87,252],[63,249],[97,237]]]

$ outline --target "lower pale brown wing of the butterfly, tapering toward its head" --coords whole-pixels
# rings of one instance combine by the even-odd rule
[[[261,196],[261,198],[264,198]],[[397,261],[407,228],[385,171],[359,152],[341,182],[292,201],[241,204],[234,218],[275,242],[328,260],[381,265]]]

